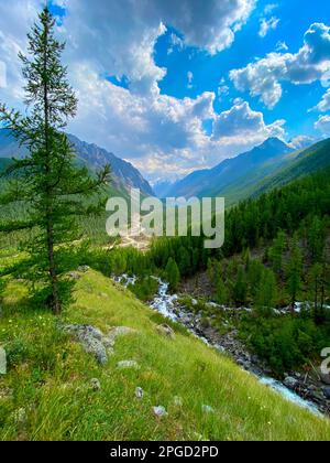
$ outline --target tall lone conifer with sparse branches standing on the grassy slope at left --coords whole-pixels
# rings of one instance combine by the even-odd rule
[[[13,160],[2,176],[6,187],[0,205],[21,202],[21,218],[0,222],[0,232],[33,229],[28,250],[35,279],[43,284],[55,314],[62,310],[61,251],[77,238],[75,216],[100,212],[95,196],[109,182],[110,168],[95,176],[78,168],[64,129],[75,117],[77,99],[61,56],[65,44],[55,37],[55,21],[48,8],[28,34],[28,56],[20,54],[26,82],[26,111],[0,104],[0,125],[28,149],[25,159]]]

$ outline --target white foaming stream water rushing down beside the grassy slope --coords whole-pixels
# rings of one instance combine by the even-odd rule
[[[177,294],[170,294],[169,293],[169,286],[168,283],[162,281],[160,278],[153,277],[158,282],[158,292],[153,299],[153,301],[150,303],[151,309],[157,311],[166,319],[172,320],[173,322],[182,323],[182,314],[177,310],[178,304],[178,297]],[[125,288],[128,288],[130,284],[135,284],[136,277],[129,277],[128,274],[123,274],[121,277],[116,277],[114,281],[118,283],[121,283]],[[216,348],[219,352],[224,353],[226,348],[221,346],[221,344],[213,344],[210,343],[206,337],[201,336],[200,333],[196,333],[194,329],[189,330],[196,337],[198,337],[200,341],[202,341],[205,344],[207,344],[209,347]],[[252,373],[252,372],[248,372]],[[297,394],[295,394],[293,390],[285,387],[282,383],[277,381],[274,378],[271,378],[265,375],[255,375],[257,379],[265,386],[271,387],[272,389],[276,390],[282,397],[284,397],[286,400],[294,402],[298,405],[299,407],[302,407],[305,409],[310,410],[311,412],[321,416],[318,408],[310,401],[302,399]]]

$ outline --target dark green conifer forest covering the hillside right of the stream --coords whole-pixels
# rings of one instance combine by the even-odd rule
[[[139,274],[134,292],[144,300],[154,291],[150,274],[161,272],[178,290],[191,278],[198,287],[207,271],[208,283],[200,286],[209,290],[201,291],[202,298],[238,310],[253,308],[237,327],[283,374],[318,356],[330,341],[329,212],[330,172],[322,171],[227,212],[222,249],[206,250],[197,237],[164,238],[146,255],[114,250],[107,259],[100,254],[98,265],[107,274]],[[278,319],[274,310],[283,309],[286,316]],[[210,315],[220,316],[205,312]]]

